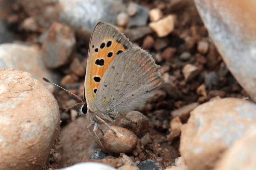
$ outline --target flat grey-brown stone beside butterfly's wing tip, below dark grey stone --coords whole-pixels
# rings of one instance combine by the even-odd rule
[[[125,29],[124,33],[131,41],[135,41],[147,34],[151,34],[152,30],[149,27],[137,27],[132,29]]]

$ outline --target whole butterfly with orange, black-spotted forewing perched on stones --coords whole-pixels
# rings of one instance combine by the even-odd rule
[[[99,123],[114,122],[120,115],[143,105],[163,83],[159,66],[149,53],[132,45],[115,26],[98,22],[91,34],[84,81],[84,99],[79,114],[89,116],[96,134]],[[111,129],[112,130],[112,129]],[[114,133],[115,131],[112,130]]]

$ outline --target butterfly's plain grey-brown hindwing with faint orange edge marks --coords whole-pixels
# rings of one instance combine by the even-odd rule
[[[103,113],[127,113],[143,105],[162,83],[159,66],[151,55],[132,47],[106,69],[96,94],[96,106]]]

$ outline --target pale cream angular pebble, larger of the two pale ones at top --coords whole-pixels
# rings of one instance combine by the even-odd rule
[[[158,37],[165,37],[174,29],[175,15],[168,15],[155,22],[150,22],[149,26],[154,30]]]

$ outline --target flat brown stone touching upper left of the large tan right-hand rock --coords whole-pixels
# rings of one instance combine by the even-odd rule
[[[189,117],[189,113],[193,111],[198,106],[198,103],[190,103],[186,106],[183,106],[179,109],[176,109],[171,112],[172,118],[179,117],[182,122],[186,122]]]

